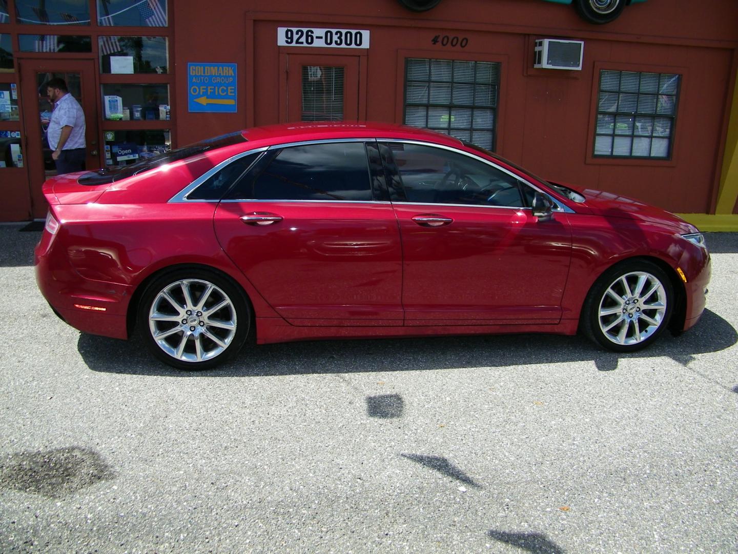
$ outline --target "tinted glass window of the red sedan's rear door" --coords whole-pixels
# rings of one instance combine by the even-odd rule
[[[364,143],[283,148],[254,182],[258,200],[371,200]]]

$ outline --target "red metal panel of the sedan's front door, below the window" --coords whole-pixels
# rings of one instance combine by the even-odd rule
[[[569,273],[565,213],[395,204],[406,325],[555,324]],[[447,219],[430,227],[415,219]],[[415,219],[413,219],[415,218]]]

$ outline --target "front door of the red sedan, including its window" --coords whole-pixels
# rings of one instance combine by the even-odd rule
[[[566,213],[533,216],[530,185],[461,151],[401,142],[380,150],[400,225],[406,325],[559,322]]]

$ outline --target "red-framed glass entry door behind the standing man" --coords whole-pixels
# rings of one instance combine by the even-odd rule
[[[24,106],[24,131],[27,137],[28,174],[31,189],[32,215],[42,218],[46,215],[46,200],[41,194],[41,185],[49,177],[56,175],[52,150],[46,138],[54,106],[46,95],[46,82],[61,77],[85,114],[86,168],[100,167],[100,148],[97,130],[97,94],[95,92],[95,64],[92,60],[23,60],[21,81],[32,83],[24,86],[22,101]]]

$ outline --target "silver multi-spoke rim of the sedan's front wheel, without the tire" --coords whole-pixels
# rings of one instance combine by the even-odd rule
[[[615,344],[638,344],[651,337],[666,315],[666,290],[651,273],[634,271],[618,277],[599,303],[598,321]]]

